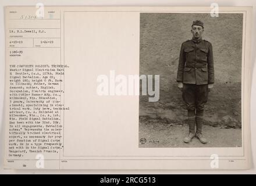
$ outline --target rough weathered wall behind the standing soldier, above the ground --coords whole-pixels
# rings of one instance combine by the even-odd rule
[[[190,40],[193,20],[204,22],[203,39],[212,43],[214,89],[205,105],[205,123],[241,128],[241,59],[243,14],[141,13],[140,74],[160,75],[160,99],[140,96],[140,121],[186,123],[186,107],[176,74],[182,42]]]

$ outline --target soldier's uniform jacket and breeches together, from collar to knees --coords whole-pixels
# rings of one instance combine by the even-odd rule
[[[205,40],[187,40],[180,49],[177,80],[183,83],[182,97],[187,110],[202,115],[208,100],[208,84],[214,83],[212,44]]]

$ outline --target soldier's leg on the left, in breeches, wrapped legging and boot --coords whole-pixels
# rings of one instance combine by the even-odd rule
[[[187,123],[189,124],[189,135],[184,138],[188,143],[195,136],[195,85],[183,84],[182,97],[187,108]]]

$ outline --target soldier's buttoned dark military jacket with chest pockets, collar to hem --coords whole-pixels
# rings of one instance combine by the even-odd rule
[[[187,40],[180,49],[177,81],[186,84],[214,83],[212,44],[205,40]]]

